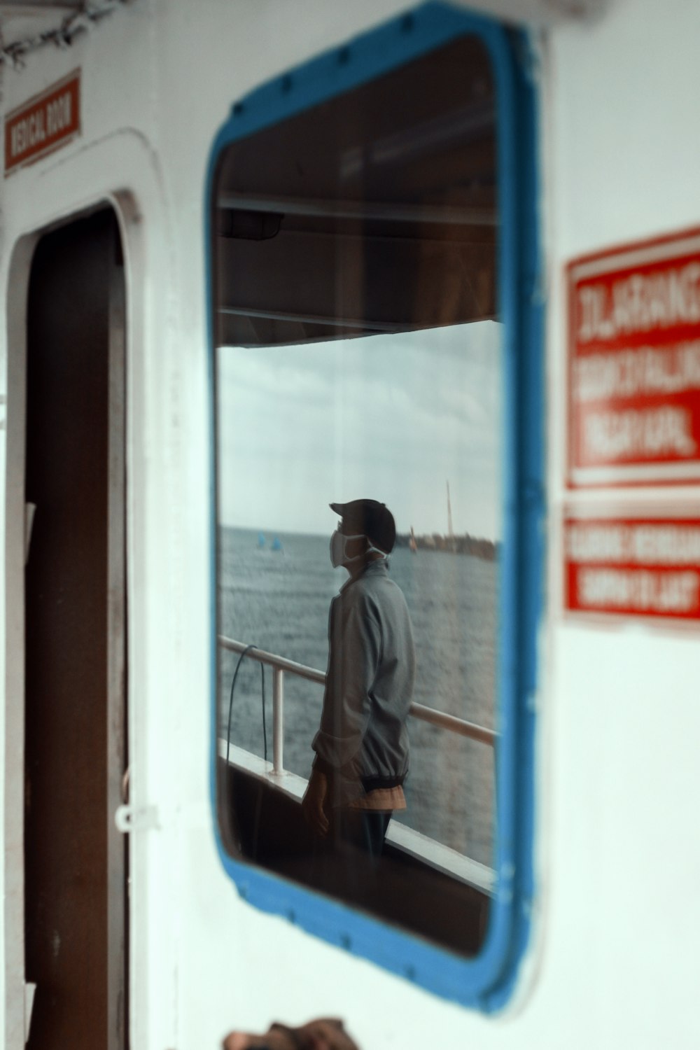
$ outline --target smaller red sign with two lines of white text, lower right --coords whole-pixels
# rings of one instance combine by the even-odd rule
[[[700,624],[700,518],[565,517],[564,607]]]

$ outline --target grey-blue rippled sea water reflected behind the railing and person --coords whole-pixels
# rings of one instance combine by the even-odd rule
[[[278,549],[273,549],[275,538]],[[221,527],[218,632],[299,664],[326,670],[331,598],[347,579],[333,569],[328,538]],[[493,728],[496,689],[497,563],[466,554],[397,548],[389,574],[403,590],[416,639],[413,699]],[[231,742],[263,755],[260,665],[219,660],[220,733],[231,707]],[[264,669],[268,757],[272,757],[272,669]],[[284,768],[309,777],[323,687],[284,675]],[[410,718],[410,771],[402,823],[490,864],[494,751]]]

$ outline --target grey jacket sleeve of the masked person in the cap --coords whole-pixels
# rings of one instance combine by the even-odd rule
[[[381,649],[379,618],[365,595],[337,597],[328,616],[328,671],[323,712],[312,744],[314,765],[330,772],[360,750]]]

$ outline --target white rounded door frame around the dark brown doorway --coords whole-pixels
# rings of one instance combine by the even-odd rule
[[[125,207],[126,206],[126,207]],[[8,268],[6,309],[7,309],[7,351],[6,351],[6,423],[5,423],[5,594],[4,594],[4,617],[5,617],[5,652],[4,652],[4,686],[5,686],[5,707],[4,707],[4,799],[3,799],[3,882],[4,882],[4,904],[2,926],[4,931],[4,1031],[0,1037],[4,1037],[3,1045],[6,1050],[20,1050],[23,1048],[28,1034],[28,1025],[31,1010],[31,992],[27,988],[25,974],[25,870],[24,870],[24,762],[25,762],[25,586],[24,586],[24,565],[26,553],[26,525],[25,525],[25,471],[26,471],[26,373],[27,373],[27,333],[26,333],[26,307],[31,266],[35,248],[38,242],[51,231],[70,226],[90,214],[109,208],[114,215],[116,231],[121,242],[122,254],[125,259],[124,275],[121,280],[125,301],[122,302],[124,323],[118,333],[112,331],[113,310],[112,296],[110,295],[110,318],[109,318],[109,410],[110,417],[112,407],[116,407],[116,401],[122,402],[121,425],[119,433],[109,426],[109,505],[108,505],[108,564],[110,579],[108,580],[108,630],[115,617],[121,617],[123,629],[123,646],[121,654],[115,647],[109,645],[107,653],[107,675],[108,689],[114,688],[114,682],[120,680],[123,684],[123,738],[121,746],[129,753],[129,740],[131,738],[130,717],[127,705],[129,686],[127,681],[126,667],[123,664],[126,656],[126,645],[128,637],[128,610],[126,595],[128,593],[128,573],[125,564],[119,565],[116,549],[123,555],[127,551],[127,518],[129,505],[129,490],[125,481],[128,464],[128,432],[126,426],[126,408],[129,401],[128,396],[128,317],[126,307],[129,301],[129,281],[126,267],[126,225],[134,210],[131,198],[128,195],[112,196],[105,194],[94,200],[93,203],[80,210],[73,210],[49,224],[43,225],[29,233],[20,236],[12,250]],[[121,390],[118,390],[114,380],[116,372],[121,369]],[[121,480],[120,480],[121,479]],[[113,486],[116,486],[114,488]],[[120,524],[115,523],[116,511],[121,506]],[[112,561],[112,558],[115,558]],[[114,593],[114,579],[121,571],[124,581],[123,609],[116,608],[116,594]],[[114,578],[114,579],[112,579]],[[109,707],[111,709],[111,701]],[[111,721],[111,720],[110,720]],[[120,746],[115,739],[113,727],[108,726],[108,761],[113,763],[114,747]],[[119,735],[119,734],[116,734]],[[121,798],[121,775],[110,776],[108,779],[108,813],[105,819],[109,820],[113,833],[108,837],[107,865],[110,870],[115,857],[115,847],[120,843],[120,833],[113,825],[113,810],[122,801]],[[128,873],[125,868],[124,889],[127,891]],[[108,909],[106,917],[108,926],[108,937],[114,936],[114,924],[110,915],[112,909]],[[111,928],[110,928],[111,926]],[[124,914],[123,930],[125,945],[129,943],[129,919],[128,911]],[[125,1004],[125,1016],[128,1018],[129,999],[129,965],[128,958],[124,958],[125,976],[124,993],[127,999]],[[113,985],[110,983],[111,989]],[[109,1001],[109,1044],[106,1050],[122,1050],[119,1047],[115,1036],[115,1020],[119,1011],[118,996],[110,994]],[[122,1046],[128,1046],[129,1032],[124,1031]]]

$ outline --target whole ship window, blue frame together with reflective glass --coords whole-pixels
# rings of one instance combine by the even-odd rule
[[[430,5],[234,107],[210,177],[224,862],[253,903],[485,1006],[531,869],[528,99],[505,34]],[[360,498],[362,525],[328,506]]]

